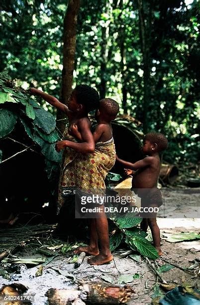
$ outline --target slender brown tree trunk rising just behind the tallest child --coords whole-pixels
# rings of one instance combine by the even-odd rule
[[[64,18],[64,32],[63,32],[63,71],[62,71],[62,89],[61,102],[67,103],[67,100],[72,91],[73,71],[76,51],[76,29],[77,29],[77,15],[80,7],[80,0],[69,0],[68,7]],[[58,111],[57,113],[57,127],[61,132],[64,131],[66,124],[65,114]],[[60,121],[61,120],[61,121]]]

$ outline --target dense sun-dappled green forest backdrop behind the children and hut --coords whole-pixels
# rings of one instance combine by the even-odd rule
[[[67,1],[3,0],[0,9],[0,72],[59,98]],[[96,87],[141,131],[166,134],[169,162],[200,154],[198,13],[198,0],[81,0],[78,14],[73,87]]]

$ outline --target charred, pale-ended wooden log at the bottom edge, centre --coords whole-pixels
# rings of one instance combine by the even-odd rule
[[[126,304],[135,293],[130,286],[103,282],[80,283],[79,290],[50,289],[45,296],[49,305]]]

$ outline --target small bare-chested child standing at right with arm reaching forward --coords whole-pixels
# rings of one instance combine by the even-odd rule
[[[133,174],[132,189],[141,197],[141,207],[160,207],[162,205],[161,191],[157,188],[157,180],[160,173],[159,152],[167,149],[168,141],[163,134],[149,133],[144,138],[142,151],[146,157],[135,163],[130,163],[116,156],[116,160],[129,169],[125,169],[127,174]],[[136,172],[132,172],[136,170]],[[151,229],[153,243],[159,255],[162,255],[160,248],[160,229],[156,222],[156,213],[143,214],[141,229],[147,231]]]

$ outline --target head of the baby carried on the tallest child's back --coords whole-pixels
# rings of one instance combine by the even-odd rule
[[[99,118],[106,120],[107,122],[113,121],[119,112],[119,104],[112,99],[100,100],[100,108],[96,111],[95,118],[98,121]]]

